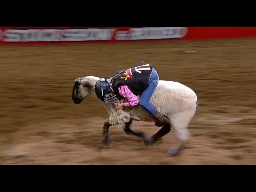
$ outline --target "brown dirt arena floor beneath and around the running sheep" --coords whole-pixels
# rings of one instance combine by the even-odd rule
[[[100,102],[71,99],[74,79],[151,62],[198,95],[182,154],[173,130],[153,146],[110,127]],[[256,39],[0,47],[0,164],[256,164]],[[154,123],[134,130],[153,134]]]

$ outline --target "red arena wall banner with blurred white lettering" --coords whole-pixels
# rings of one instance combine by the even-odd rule
[[[2,27],[0,44],[110,43],[255,37],[256,27]]]

